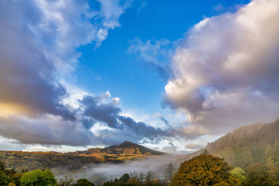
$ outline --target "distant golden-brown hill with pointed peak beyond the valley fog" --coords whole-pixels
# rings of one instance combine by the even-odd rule
[[[139,160],[146,157],[157,157],[164,155],[156,150],[124,141],[118,146],[106,148],[89,148],[84,151],[73,153],[56,152],[22,152],[0,150],[0,160],[8,168],[17,169],[51,169],[65,167],[67,169],[80,169],[86,164],[100,162],[121,163],[130,160]]]

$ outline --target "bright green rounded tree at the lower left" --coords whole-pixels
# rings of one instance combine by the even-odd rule
[[[24,185],[56,185],[56,179],[50,170],[35,170],[24,173],[20,179],[20,183]]]

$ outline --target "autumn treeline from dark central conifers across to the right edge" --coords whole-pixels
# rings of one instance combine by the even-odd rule
[[[274,148],[271,148],[274,149]],[[146,175],[140,173],[123,174],[118,179],[103,183],[103,186],[155,186],[155,185],[238,185],[238,186],[261,186],[279,185],[279,167],[276,152],[271,150],[271,158],[267,164],[257,162],[243,170],[240,167],[233,168],[225,160],[209,155],[204,150],[202,155],[193,157],[191,160],[180,164],[178,171],[174,171],[172,164],[169,164],[169,171],[166,171],[169,178],[158,179],[152,176],[149,171]]]

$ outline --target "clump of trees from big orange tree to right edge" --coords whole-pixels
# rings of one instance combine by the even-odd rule
[[[246,170],[240,167],[233,169],[224,159],[209,155],[205,150],[202,155],[183,162],[170,185],[279,185],[279,152],[271,149],[271,157],[266,164],[257,162]]]

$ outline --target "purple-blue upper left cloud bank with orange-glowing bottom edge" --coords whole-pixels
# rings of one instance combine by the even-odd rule
[[[68,95],[59,74],[75,68],[77,47],[100,43],[105,39],[98,37],[100,30],[119,26],[127,6],[100,1],[100,10],[93,10],[86,1],[33,0],[1,1],[0,8],[2,114],[47,113],[74,120],[61,104]]]

